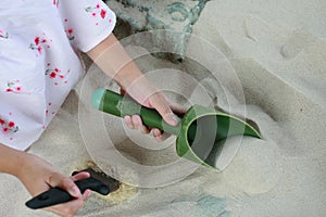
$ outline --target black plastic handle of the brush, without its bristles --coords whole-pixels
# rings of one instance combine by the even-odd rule
[[[75,181],[75,183],[79,188],[82,193],[84,193],[87,189],[96,191],[102,195],[108,195],[110,193],[110,188],[106,184],[91,177]],[[38,209],[65,203],[72,201],[73,199],[74,196],[72,196],[65,190],[62,190],[60,188],[52,188],[27,201],[26,206],[33,209]]]

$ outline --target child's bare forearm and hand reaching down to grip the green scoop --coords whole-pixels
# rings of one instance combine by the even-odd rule
[[[186,113],[183,106],[170,102],[161,91],[158,91],[147,80],[113,34],[87,54],[131,98],[145,106],[155,108],[167,124],[175,126],[178,123],[173,111],[178,114]],[[142,126],[138,115],[126,116],[125,119],[130,128],[149,132],[149,129]],[[159,129],[153,129],[153,136],[156,140],[163,139],[163,135]]]

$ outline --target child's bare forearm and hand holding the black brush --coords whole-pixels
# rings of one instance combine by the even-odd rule
[[[0,173],[17,177],[32,196],[36,196],[51,187],[60,187],[70,192],[76,200],[47,208],[47,210],[61,216],[75,215],[90,195],[90,190],[85,191],[82,195],[74,183],[75,180],[88,178],[88,173],[80,173],[68,178],[36,155],[3,144],[0,144]]]

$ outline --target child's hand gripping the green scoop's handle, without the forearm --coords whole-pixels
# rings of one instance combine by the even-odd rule
[[[178,118],[175,114],[184,115],[187,112],[186,107],[171,102],[162,91],[152,87],[146,79],[141,80],[142,81],[133,85],[127,90],[127,93],[141,105],[155,108],[167,124],[176,126],[178,124]],[[121,92],[123,94],[125,93],[124,90]],[[150,133],[152,131],[156,141],[164,141],[170,137],[168,133],[163,132],[160,129],[150,129],[145,126],[139,115],[125,116],[125,122],[129,128],[138,129],[143,133]]]

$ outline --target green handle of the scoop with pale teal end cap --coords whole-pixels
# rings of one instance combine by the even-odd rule
[[[180,131],[180,124],[168,125],[156,110],[141,106],[133,99],[108,89],[97,89],[92,93],[91,103],[96,108],[118,117],[139,115],[142,123],[151,128],[158,128],[172,135],[178,135]]]

